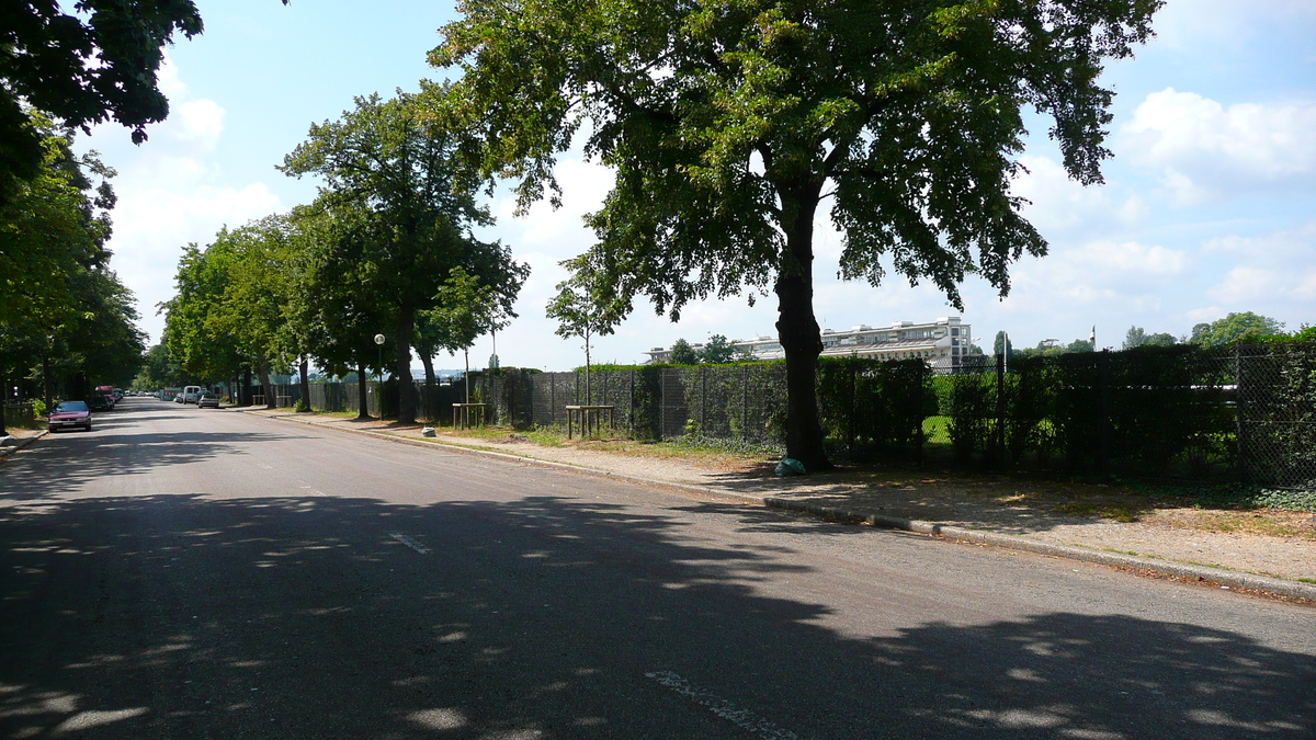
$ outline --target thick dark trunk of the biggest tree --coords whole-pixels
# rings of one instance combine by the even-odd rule
[[[804,463],[809,473],[830,470],[822,449],[819,423],[817,358],[822,338],[813,316],[813,213],[819,184],[807,184],[782,195],[782,228],[786,254],[778,267],[776,333],[786,352],[786,456]]]

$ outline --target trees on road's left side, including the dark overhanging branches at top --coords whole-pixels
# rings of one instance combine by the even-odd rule
[[[287,0],[283,0],[287,4]],[[75,157],[76,129],[117,121],[146,141],[168,100],[157,72],[175,34],[201,33],[191,0],[9,3],[0,12],[0,388],[54,394],[128,384],[145,337],[133,296],[109,270],[113,175]],[[161,352],[147,359],[168,369]],[[0,433],[4,432],[0,415]]]

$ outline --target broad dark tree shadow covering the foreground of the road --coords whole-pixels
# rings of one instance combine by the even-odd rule
[[[0,510],[0,736],[1316,732],[1311,654],[1119,614],[951,619],[937,594],[855,633],[782,593],[815,577],[786,549],[565,495]]]

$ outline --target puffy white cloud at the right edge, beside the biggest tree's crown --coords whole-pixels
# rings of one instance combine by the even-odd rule
[[[1177,203],[1200,201],[1240,184],[1292,182],[1316,174],[1316,101],[1230,107],[1167,87],[1138,105],[1120,150],[1159,172]]]

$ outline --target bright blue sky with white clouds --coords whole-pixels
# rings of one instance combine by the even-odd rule
[[[155,307],[174,295],[183,246],[313,200],[315,180],[275,166],[312,122],[337,120],[355,96],[443,79],[425,53],[455,18],[446,3],[408,0],[197,4],[205,33],[176,40],[159,78],[168,120],[150,126],[141,146],[116,125],[78,142],[118,172],[111,266],[134,291],[150,344],[161,338]],[[1028,174],[1015,191],[1032,201],[1025,215],[1050,253],[1013,266],[1007,298],[970,278],[959,313],[934,287],[896,275],[880,287],[838,280],[841,236],[820,212],[820,324],[840,330],[959,315],[988,352],[998,330],[1033,346],[1087,338],[1095,325],[1098,346],[1117,349],[1134,325],[1184,336],[1229,312],[1254,311],[1287,329],[1316,324],[1316,3],[1169,0],[1153,28],[1150,43],[1103,76],[1117,93],[1104,186],[1069,180],[1046,121],[1030,125],[1020,157]],[[584,362],[582,341],[555,336],[544,307],[566,277],[558,262],[592,242],[582,216],[597,208],[611,175],[579,153],[562,157],[558,175],[561,209],[540,204],[515,217],[511,200],[496,195],[488,205],[497,224],[479,234],[501,240],[532,269],[519,317],[496,337],[503,366]],[[746,298],[709,300],[672,324],[637,299],[613,336],[595,340],[592,357],[632,363],[676,338],[775,334],[775,305],[772,296],[753,307]],[[471,366],[492,352],[492,337],[478,340]],[[461,367],[462,358],[436,363]]]

